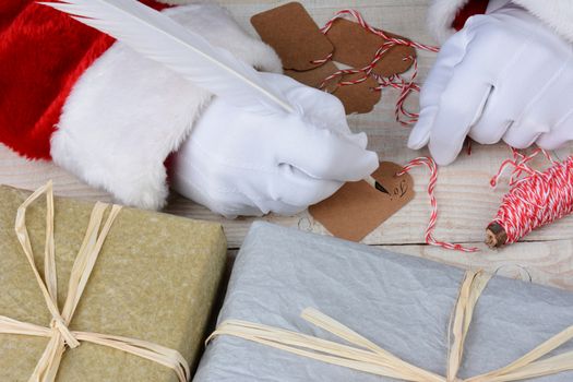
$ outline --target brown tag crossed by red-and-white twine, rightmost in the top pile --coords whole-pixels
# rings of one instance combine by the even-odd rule
[[[390,37],[407,39],[392,33],[384,33]],[[338,19],[334,22],[327,37],[334,45],[333,60],[354,68],[365,68],[370,64],[378,49],[387,41],[366,31],[360,24],[345,19]],[[407,46],[392,47],[378,61],[373,72],[382,76],[404,73],[414,62],[406,59],[407,57],[416,57],[416,49]]]

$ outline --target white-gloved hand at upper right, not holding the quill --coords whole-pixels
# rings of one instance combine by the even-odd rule
[[[408,147],[452,163],[466,135],[516,148],[573,140],[573,49],[516,5],[475,15],[441,48]]]

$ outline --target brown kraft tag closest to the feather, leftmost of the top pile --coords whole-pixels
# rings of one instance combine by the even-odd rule
[[[255,14],[251,24],[263,41],[276,50],[285,69],[303,71],[317,68],[312,61],[326,58],[334,49],[298,2]]]

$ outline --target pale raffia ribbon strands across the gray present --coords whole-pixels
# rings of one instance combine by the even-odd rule
[[[399,359],[349,327],[312,308],[302,311],[302,319],[354,346],[239,320],[223,322],[207,338],[207,343],[216,336],[231,335],[323,362],[413,382],[521,381],[573,370],[573,351],[538,360],[573,337],[572,325],[504,368],[466,380],[457,377],[474,308],[490,277],[481,271],[468,271],[464,276],[450,324],[452,341],[447,356],[446,377],[423,370]]]

